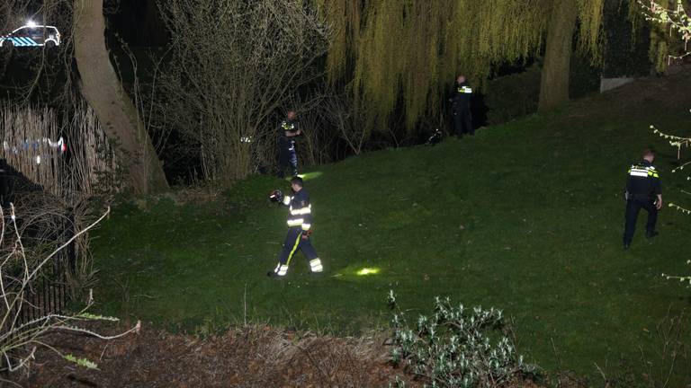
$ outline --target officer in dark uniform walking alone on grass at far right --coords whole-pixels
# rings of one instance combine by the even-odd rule
[[[631,165],[627,174],[626,191],[626,225],[624,226],[624,249],[631,246],[633,232],[636,229],[636,219],[641,208],[648,212],[648,223],[645,225],[645,237],[655,237],[655,223],[658,220],[658,210],[662,207],[662,190],[660,188],[660,172],[652,162],[655,153],[650,149],[643,152],[643,160]]]

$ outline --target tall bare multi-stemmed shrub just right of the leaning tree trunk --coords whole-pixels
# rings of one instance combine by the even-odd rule
[[[245,178],[273,156],[273,112],[321,78],[315,63],[326,53],[325,28],[296,0],[158,6],[172,39],[158,80],[161,125],[192,145],[206,180]]]

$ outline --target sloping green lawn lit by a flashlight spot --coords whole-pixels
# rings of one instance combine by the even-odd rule
[[[665,200],[683,199],[687,182],[669,173],[676,149],[649,126],[688,134],[690,85],[641,81],[475,137],[310,171],[322,278],[301,255],[288,278],[265,276],[287,216],[266,196],[285,181],[253,177],[211,202],[121,205],[94,241],[99,310],[190,331],[248,321],[356,333],[387,325],[393,289],[411,313],[435,295],[503,309],[521,352],[550,370],[638,359],[639,346],[657,347],[656,324],[691,306],[687,288],[660,277],[691,272],[691,218],[664,208],[647,241],[642,214],[623,251],[625,172],[653,145]]]

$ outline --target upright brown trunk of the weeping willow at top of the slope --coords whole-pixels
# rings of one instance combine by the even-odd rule
[[[578,14],[576,0],[552,1],[537,107],[541,113],[569,101],[570,60]]]

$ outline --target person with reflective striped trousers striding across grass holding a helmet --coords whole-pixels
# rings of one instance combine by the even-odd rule
[[[266,274],[270,278],[284,277],[288,273],[292,256],[298,250],[301,250],[307,256],[307,259],[310,260],[310,273],[318,274],[324,270],[321,260],[317,256],[317,251],[314,250],[310,242],[312,227],[310,194],[302,187],[302,179],[300,177],[292,178],[291,187],[292,197],[283,196],[281,190],[274,190],[271,193],[271,199],[287,206],[291,211],[291,215],[288,216],[288,234],[286,234],[285,241],[283,242],[283,250],[278,256],[278,265],[273,271],[269,271]]]

